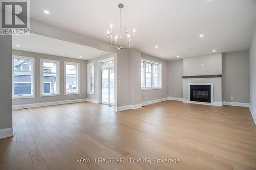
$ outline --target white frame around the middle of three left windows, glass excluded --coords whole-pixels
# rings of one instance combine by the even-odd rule
[[[43,63],[44,63],[44,61],[58,63],[58,68],[56,69],[56,76],[57,76],[57,81],[58,81],[57,82],[57,87],[58,87],[57,94],[44,94],[44,92],[43,92],[44,88],[43,88],[42,84],[44,82],[42,81],[42,77],[44,76],[44,74],[43,74],[43,71],[44,71]],[[42,58],[40,59],[40,91],[41,91],[41,97],[59,96],[60,95],[60,61],[58,61],[58,60],[50,60],[50,59],[42,59]]]

